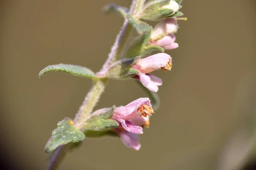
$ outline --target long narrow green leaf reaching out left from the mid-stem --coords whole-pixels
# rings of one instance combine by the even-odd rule
[[[57,64],[57,65],[49,65],[40,71],[38,77],[40,78],[44,74],[50,71],[61,71],[64,73],[72,74],[75,76],[80,77],[87,77],[87,78],[97,78],[93,71],[89,68],[82,67],[79,65],[71,65],[71,64]]]

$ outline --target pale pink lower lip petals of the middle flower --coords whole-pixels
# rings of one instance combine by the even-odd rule
[[[146,75],[146,74],[141,73],[139,75],[140,82],[149,90],[157,92],[158,91],[157,86],[162,85],[162,80],[158,77],[154,77],[152,75],[149,76],[149,75],[150,74]],[[151,78],[152,78],[152,80],[151,80]]]

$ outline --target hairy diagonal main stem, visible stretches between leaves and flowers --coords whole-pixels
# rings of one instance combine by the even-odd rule
[[[130,8],[130,14],[137,14],[145,0],[133,0],[131,8]],[[109,65],[111,65],[113,62],[116,62],[117,59],[120,57],[123,47],[132,31],[132,26],[128,23],[128,20],[126,19],[123,23],[121,31],[119,31],[119,34],[116,37],[116,41],[114,45],[111,48],[111,52],[108,55],[108,59],[106,60],[105,64],[102,66],[101,70],[104,70],[108,68]],[[96,106],[97,102],[99,101],[99,98],[101,94],[104,92],[105,85],[107,84],[108,79],[98,79],[94,83],[93,87],[90,89],[86,97],[84,98],[84,102],[82,103],[81,107],[79,108],[78,113],[76,114],[76,117],[74,119],[75,125],[78,125],[79,123],[83,122],[83,120],[90,115],[90,113],[93,111],[93,108]],[[47,170],[55,170],[58,168],[58,165],[61,163],[61,161],[64,159],[65,154],[72,146],[72,143],[61,145],[57,147],[57,149],[54,151],[51,160],[47,166]]]

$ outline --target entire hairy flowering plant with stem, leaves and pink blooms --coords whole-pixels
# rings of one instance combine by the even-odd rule
[[[52,131],[45,145],[46,153],[53,152],[47,169],[56,168],[64,153],[81,144],[85,137],[119,136],[127,147],[140,149],[138,134],[143,133],[144,127],[149,127],[149,118],[159,106],[156,92],[162,80],[151,72],[172,68],[172,57],[163,52],[178,47],[174,35],[178,29],[177,20],[186,20],[180,18],[183,15],[179,11],[181,1],[133,0],[130,9],[115,4],[105,6],[107,13],[114,11],[125,21],[102,69],[94,73],[79,65],[57,64],[49,65],[39,73],[41,77],[50,71],[61,71],[93,80],[75,118],[64,118]],[[147,20],[158,23],[153,28],[145,23]],[[133,29],[138,36],[130,40]],[[148,92],[151,102],[149,98],[140,98],[125,106],[113,105],[93,112],[109,79],[134,79]]]

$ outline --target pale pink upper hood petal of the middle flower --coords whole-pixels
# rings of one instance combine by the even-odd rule
[[[166,66],[170,59],[171,57],[168,54],[158,53],[140,59],[136,64],[132,66],[132,68],[146,74]]]

